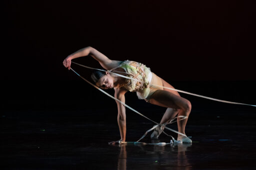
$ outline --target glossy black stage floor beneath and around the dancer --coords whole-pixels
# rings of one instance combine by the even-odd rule
[[[108,145],[119,139],[115,114],[100,112],[4,112],[1,170],[251,170],[256,166],[254,112],[192,112],[186,134],[192,144]],[[235,116],[234,116],[235,115]],[[152,115],[149,115],[152,116]],[[154,120],[157,120],[155,117]],[[127,117],[127,141],[153,124]],[[176,125],[170,128],[175,129]],[[175,134],[166,131],[166,133]],[[142,142],[169,142],[159,140]]]

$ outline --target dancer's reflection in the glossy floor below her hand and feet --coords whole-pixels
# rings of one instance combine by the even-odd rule
[[[120,154],[118,156],[117,170],[126,170],[127,159],[129,164],[134,165],[132,169],[137,169],[136,166],[146,166],[146,160],[151,160],[149,163],[149,169],[157,169],[159,166],[161,169],[169,169],[175,167],[175,169],[190,170],[191,164],[186,158],[185,152],[187,148],[192,144],[171,144],[168,146],[137,146],[138,149],[135,154],[129,153],[130,150],[134,150],[132,146],[118,145]],[[127,153],[129,153],[127,157]],[[138,154],[140,153],[140,154]],[[143,158],[139,158],[143,157]],[[175,158],[175,159],[173,159]],[[138,161],[141,161],[140,163]],[[142,161],[143,160],[143,161]],[[146,166],[147,167],[147,166]]]

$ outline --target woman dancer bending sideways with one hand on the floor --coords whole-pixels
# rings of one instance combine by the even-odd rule
[[[167,108],[164,115],[162,116],[160,124],[169,122],[176,115],[187,117],[189,116],[189,113],[191,111],[191,103],[187,99],[180,97],[178,92],[164,88],[173,87],[166,81],[155,75],[153,72],[150,71],[148,67],[141,63],[128,60],[110,60],[105,55],[89,46],[82,48],[67,56],[63,61],[63,65],[70,69],[72,59],[87,55],[92,56],[95,60],[99,62],[99,64],[104,69],[108,71],[140,80],[140,82],[138,82],[135,80],[126,79],[120,76],[110,74],[108,71],[106,71],[105,73],[96,71],[91,75],[91,78],[98,87],[102,89],[113,88],[114,97],[122,101],[123,103],[125,103],[124,94],[127,91],[130,91],[136,92],[139,99],[144,99],[148,103]],[[144,83],[141,83],[141,81]],[[163,86],[163,88],[153,86],[148,83]],[[119,141],[111,142],[112,144],[125,142],[126,135],[125,107],[117,101],[116,104],[118,109],[117,123],[119,126],[121,139]],[[183,119],[180,121],[179,119],[182,118],[177,118],[178,132],[185,134],[187,119]],[[159,127],[155,128],[150,136],[151,139],[157,139],[161,132],[162,129],[160,129]],[[179,134],[177,137],[177,141],[181,141],[183,143],[192,142],[189,138]]]

